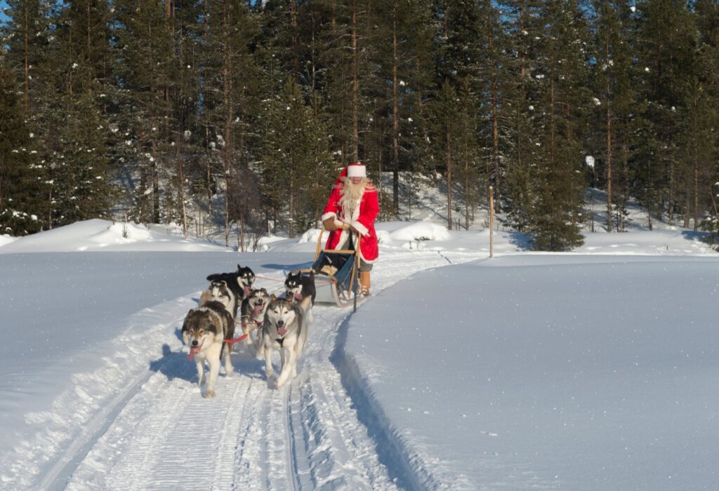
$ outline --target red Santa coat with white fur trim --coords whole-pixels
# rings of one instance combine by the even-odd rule
[[[369,183],[365,186],[365,192],[362,194],[362,200],[359,202],[359,207],[352,212],[352,216],[347,217],[344,215],[342,205],[339,204],[339,198],[342,197],[339,191],[342,190],[344,184],[339,181],[334,185],[327,205],[324,207],[322,214],[322,221],[327,218],[333,217],[335,223],[344,223],[346,225],[352,225],[360,235],[362,240],[359,241],[359,257],[362,258],[365,263],[372,263],[377,259],[380,254],[380,249],[377,246],[377,232],[375,231],[375,219],[377,213],[380,212],[380,204],[377,200],[377,188],[374,184]],[[335,249],[337,246],[344,243],[349,236],[348,229],[337,229],[329,233],[326,249]]]

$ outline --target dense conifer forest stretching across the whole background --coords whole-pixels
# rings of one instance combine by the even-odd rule
[[[6,0],[0,233],[78,220],[289,237],[362,161],[381,220],[582,243],[626,204],[719,231],[718,0]],[[380,179],[385,176],[385,179]],[[476,227],[475,227],[476,228]]]

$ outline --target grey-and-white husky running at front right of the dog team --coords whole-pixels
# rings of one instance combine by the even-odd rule
[[[275,382],[282,387],[287,379],[297,376],[297,360],[307,342],[307,324],[302,309],[288,299],[277,299],[267,306],[265,322],[262,324],[260,352],[265,357],[267,380],[273,375],[272,355],[280,352],[282,367]]]

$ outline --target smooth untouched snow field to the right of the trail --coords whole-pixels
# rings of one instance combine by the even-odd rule
[[[431,489],[713,487],[719,258],[566,257],[438,268],[362,304],[359,411]]]

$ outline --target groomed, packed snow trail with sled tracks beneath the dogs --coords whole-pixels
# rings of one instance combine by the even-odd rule
[[[375,292],[417,271],[480,257],[457,253],[452,261],[431,251],[386,256],[372,274]],[[90,437],[86,455],[58,458],[80,461],[65,489],[398,489],[329,360],[339,326],[351,313],[313,309],[298,377],[280,389],[274,388],[279,355],[268,381],[264,361],[244,344],[232,355],[234,373],[221,368],[213,399],[201,397],[193,363],[166,358],[145,383],[137,378],[137,392],[112,412],[104,432],[98,430],[102,434]],[[168,325],[181,324],[179,318]],[[174,336],[168,332],[158,342]],[[172,341],[177,349],[178,340]]]

